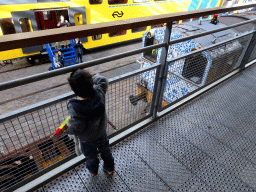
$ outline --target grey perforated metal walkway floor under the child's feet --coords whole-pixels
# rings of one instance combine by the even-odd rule
[[[112,147],[116,173],[82,164],[37,191],[256,191],[256,65]]]

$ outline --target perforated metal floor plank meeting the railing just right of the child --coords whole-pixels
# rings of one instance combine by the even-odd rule
[[[147,132],[142,131],[129,137],[125,144],[131,147],[173,191],[184,187],[211,191]]]

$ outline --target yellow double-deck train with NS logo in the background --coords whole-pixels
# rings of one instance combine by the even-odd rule
[[[217,7],[223,2],[224,0],[0,0],[0,35],[53,29],[57,27],[61,15],[72,26],[77,26]],[[141,38],[146,30],[154,27],[156,26],[84,37],[81,41],[86,49],[91,49]],[[44,54],[47,55],[45,45],[38,45],[0,52],[0,60],[27,57],[30,63],[40,63]]]

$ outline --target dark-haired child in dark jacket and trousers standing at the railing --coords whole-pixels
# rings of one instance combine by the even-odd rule
[[[81,150],[90,173],[94,176],[98,174],[99,151],[104,161],[103,170],[112,175],[114,158],[106,133],[105,94],[108,80],[99,74],[92,77],[89,72],[78,69],[70,74],[68,82],[78,99],[71,99],[68,103],[71,118],[66,132],[80,139]]]

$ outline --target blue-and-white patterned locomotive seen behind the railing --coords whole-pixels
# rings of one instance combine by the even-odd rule
[[[212,24],[209,20],[199,22],[200,21],[193,21],[174,25],[171,32],[171,40],[229,25],[227,21],[226,24],[218,22],[216,25]],[[231,22],[231,24],[234,23]],[[143,35],[142,47],[162,43],[164,34],[165,28],[151,29]],[[162,106],[166,106],[182,98],[188,93],[213,82],[234,69],[242,52],[244,42],[234,40],[225,46],[187,56],[175,62],[170,62],[171,59],[228,40],[239,34],[240,32],[238,30],[230,29],[169,46],[167,56],[169,67]],[[161,51],[162,48],[143,52],[141,60],[138,61],[141,63],[141,68],[159,64]],[[156,69],[144,72],[140,75],[138,95],[130,96],[130,101],[133,105],[136,105],[139,100],[144,100],[150,104],[154,89],[155,75]],[[146,109],[144,112],[146,112]]]

